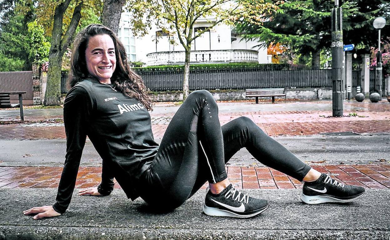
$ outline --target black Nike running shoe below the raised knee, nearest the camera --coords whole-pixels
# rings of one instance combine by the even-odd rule
[[[210,216],[246,218],[260,214],[268,207],[268,201],[247,196],[230,184],[218,194],[207,192],[203,212]]]

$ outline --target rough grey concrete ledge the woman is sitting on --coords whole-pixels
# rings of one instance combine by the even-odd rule
[[[74,194],[64,215],[33,220],[22,211],[53,203],[56,189],[0,190],[0,239],[390,239],[390,189],[369,189],[344,205],[305,205],[300,189],[245,192],[269,200],[268,210],[250,219],[210,217],[200,190],[173,212],[156,212],[115,189],[106,197]]]

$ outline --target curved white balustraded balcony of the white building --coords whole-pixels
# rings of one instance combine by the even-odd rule
[[[157,65],[184,65],[184,51],[166,51],[149,53],[147,56],[148,66]],[[258,63],[259,52],[255,50],[204,50],[191,51],[191,64],[205,63]]]

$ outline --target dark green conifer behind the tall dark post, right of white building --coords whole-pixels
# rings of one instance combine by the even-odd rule
[[[256,2],[256,0],[246,0]],[[269,2],[275,2],[268,0]],[[286,0],[277,1],[277,11],[266,14],[266,21],[258,21],[257,16],[239,19],[236,31],[245,33],[246,39],[257,39],[262,46],[280,43],[290,46],[294,52],[305,58],[311,55],[312,67],[320,64],[320,51],[331,42],[331,10],[334,1],[330,0]],[[346,16],[355,14],[356,8],[349,2],[342,5],[344,25]]]

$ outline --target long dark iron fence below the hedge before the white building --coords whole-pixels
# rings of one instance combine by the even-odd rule
[[[192,70],[189,88],[245,89],[245,88],[321,88],[332,87],[331,69],[313,70]],[[182,71],[138,72],[151,91],[181,91]],[[66,93],[66,73],[61,76],[61,92]]]

